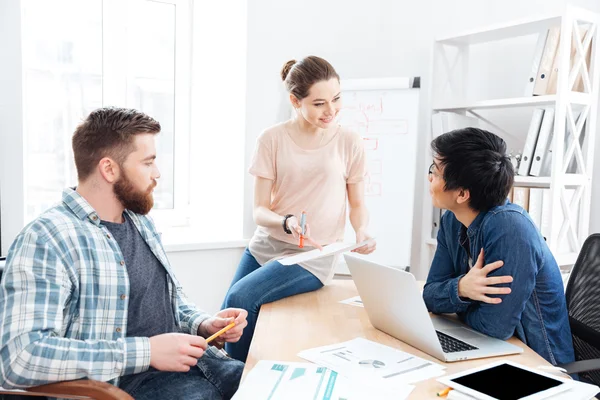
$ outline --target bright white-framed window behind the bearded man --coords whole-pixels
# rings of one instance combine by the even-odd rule
[[[161,123],[155,211],[185,223],[189,13],[188,2],[179,0],[22,2],[25,222],[76,185],[71,136],[77,124],[98,107],[119,106]],[[184,105],[176,109],[179,102]]]

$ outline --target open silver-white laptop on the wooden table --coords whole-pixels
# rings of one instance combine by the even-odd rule
[[[429,314],[411,273],[348,254],[344,258],[375,328],[446,362],[523,352],[458,320]]]

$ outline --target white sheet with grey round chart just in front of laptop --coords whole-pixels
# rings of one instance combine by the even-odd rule
[[[387,390],[441,376],[446,368],[436,362],[363,338],[304,350],[298,356],[350,379],[376,382],[378,387]]]

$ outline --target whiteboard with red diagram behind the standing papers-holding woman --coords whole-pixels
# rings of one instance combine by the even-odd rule
[[[419,116],[419,88],[413,78],[342,81],[339,122],[363,138],[367,159],[365,201],[369,234],[377,250],[362,256],[391,267],[410,265]],[[344,241],[356,241],[346,221]],[[343,257],[337,273],[346,273]]]

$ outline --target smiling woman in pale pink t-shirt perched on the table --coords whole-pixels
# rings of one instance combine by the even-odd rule
[[[245,361],[261,305],[321,288],[333,276],[337,257],[284,266],[277,260],[343,240],[346,204],[357,243],[370,239],[364,201],[362,138],[341,127],[340,78],[322,58],[288,61],[281,78],[295,118],[266,129],[258,138],[249,172],[255,177],[254,221],[223,308],[248,310],[248,326],[225,349]],[[306,213],[304,247],[300,215]],[[375,241],[354,251],[369,254]]]

